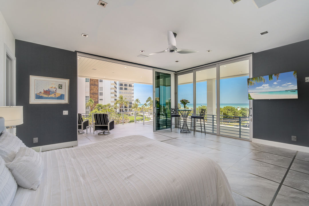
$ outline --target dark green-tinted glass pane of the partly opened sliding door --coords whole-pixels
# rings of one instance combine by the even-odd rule
[[[171,128],[171,74],[155,71],[155,130]]]

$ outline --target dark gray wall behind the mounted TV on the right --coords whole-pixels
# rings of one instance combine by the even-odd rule
[[[308,54],[309,40],[253,54],[253,77],[297,70],[298,84],[298,99],[253,100],[253,138],[309,147]]]

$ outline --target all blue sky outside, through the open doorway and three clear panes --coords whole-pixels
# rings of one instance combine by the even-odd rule
[[[293,72],[292,72],[293,73]],[[220,80],[220,103],[222,104],[248,104],[248,76]],[[207,82],[197,83],[197,104],[207,103]],[[148,97],[152,98],[152,85],[134,83],[134,100],[139,99],[145,103]],[[187,99],[193,103],[193,84],[178,86],[178,99]]]

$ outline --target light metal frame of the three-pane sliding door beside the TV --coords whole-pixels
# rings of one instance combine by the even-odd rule
[[[205,70],[205,69],[210,69],[210,68],[214,68],[216,67],[216,76],[217,76],[217,94],[216,94],[216,103],[217,103],[217,111],[220,111],[220,71],[219,71],[219,67],[221,65],[225,65],[225,64],[229,64],[229,63],[234,63],[234,62],[240,62],[240,61],[244,61],[244,60],[249,60],[249,78],[252,77],[252,54],[248,54],[242,57],[237,57],[237,58],[232,58],[232,59],[228,59],[228,60],[223,60],[220,62],[216,62],[214,64],[209,64],[209,65],[205,65],[205,66],[201,66],[201,67],[196,67],[194,69],[191,70],[187,70],[184,72],[180,72],[176,74],[176,81],[175,81],[175,102],[177,103],[178,101],[178,76],[179,75],[183,75],[183,74],[188,74],[193,72],[193,115],[196,114],[196,72],[200,71],[200,70]],[[250,108],[251,111],[250,111]],[[250,114],[252,115],[252,100],[249,100],[249,111]],[[217,120],[220,121],[220,113],[217,112]],[[249,140],[248,139],[242,139],[242,138],[237,138],[237,137],[231,137],[231,136],[227,136],[227,135],[220,135],[220,123],[217,123],[217,132],[215,133],[215,135],[218,136],[224,136],[224,137],[229,137],[229,138],[234,138],[234,139],[242,139],[242,140],[247,140],[247,141],[252,141],[252,136],[253,136],[253,132],[252,132],[252,125],[253,125],[253,118],[252,116],[249,116]],[[214,133],[210,133],[210,132],[206,132],[208,134],[214,134]]]

